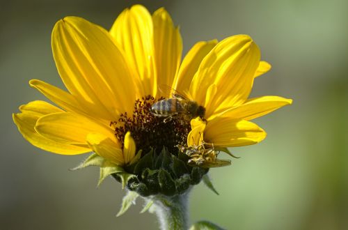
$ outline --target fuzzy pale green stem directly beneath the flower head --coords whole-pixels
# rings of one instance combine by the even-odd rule
[[[185,192],[185,194],[173,197],[163,195],[152,197],[151,210],[157,215],[161,230],[188,229],[188,194],[189,192]]]

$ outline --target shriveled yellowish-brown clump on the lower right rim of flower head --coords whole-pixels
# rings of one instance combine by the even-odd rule
[[[231,164],[230,160],[217,159],[218,153],[214,149],[214,144],[202,141],[198,146],[177,146],[179,150],[190,157],[187,163],[191,166],[202,168],[223,167]]]

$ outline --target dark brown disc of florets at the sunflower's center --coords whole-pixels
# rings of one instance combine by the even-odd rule
[[[125,134],[131,132],[137,151],[142,149],[143,153],[148,153],[154,149],[158,153],[166,147],[170,153],[177,154],[178,145],[187,145],[190,122],[180,116],[154,116],[151,106],[157,101],[151,95],[136,100],[131,116],[127,112],[121,114],[118,121],[111,121],[110,125],[122,145]]]

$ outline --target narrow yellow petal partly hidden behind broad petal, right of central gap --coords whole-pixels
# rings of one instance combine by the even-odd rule
[[[208,42],[198,42],[193,45],[182,61],[180,70],[173,82],[173,89],[184,93],[187,98],[190,98],[187,93],[189,92],[192,78],[197,72],[203,58],[212,50],[212,48],[214,48],[216,44],[217,40],[211,40]]]

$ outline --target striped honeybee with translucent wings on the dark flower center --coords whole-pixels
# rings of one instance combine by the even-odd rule
[[[172,91],[172,98],[160,100],[151,106],[151,112],[155,116],[173,117],[182,116],[184,119],[191,120],[197,116],[204,118],[205,107],[198,105],[197,102],[185,98],[181,93],[170,86],[160,85],[160,91]]]

